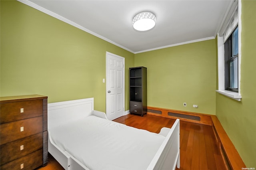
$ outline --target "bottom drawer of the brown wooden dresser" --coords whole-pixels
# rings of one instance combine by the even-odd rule
[[[43,164],[43,149],[1,165],[1,170],[33,170]],[[23,168],[21,168],[23,167]]]

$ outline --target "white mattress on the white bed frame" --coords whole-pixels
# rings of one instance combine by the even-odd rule
[[[96,116],[49,129],[53,142],[90,170],[146,170],[164,136]]]

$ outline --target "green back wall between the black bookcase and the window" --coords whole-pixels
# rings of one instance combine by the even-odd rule
[[[148,106],[215,115],[215,39],[135,54],[135,66],[148,68]]]

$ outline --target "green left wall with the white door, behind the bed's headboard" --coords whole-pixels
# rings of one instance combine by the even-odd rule
[[[106,51],[125,57],[125,110],[134,54],[18,1],[1,0],[0,95],[48,96],[48,102],[94,97],[106,111]]]

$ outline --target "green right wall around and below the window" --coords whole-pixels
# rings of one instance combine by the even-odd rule
[[[216,95],[216,116],[248,168],[256,168],[256,1],[242,1],[242,101]]]

